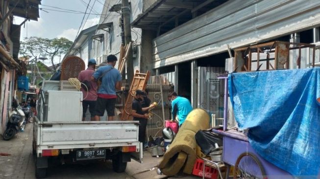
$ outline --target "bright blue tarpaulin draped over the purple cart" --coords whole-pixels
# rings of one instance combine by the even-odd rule
[[[232,73],[236,121],[261,157],[294,176],[320,169],[320,68]]]

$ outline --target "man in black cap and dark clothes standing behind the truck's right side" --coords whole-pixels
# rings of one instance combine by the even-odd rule
[[[146,93],[142,90],[136,90],[136,96],[132,101],[132,111],[131,114],[133,116],[134,121],[139,121],[139,142],[145,143],[146,140],[146,130],[147,130],[147,122],[149,115],[148,110],[154,108],[154,105],[151,105],[146,108],[141,107],[141,102],[146,96]]]

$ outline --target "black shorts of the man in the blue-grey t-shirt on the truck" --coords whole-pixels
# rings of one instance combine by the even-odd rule
[[[104,99],[104,98],[98,97],[97,103],[96,103],[95,115],[103,116],[104,111],[107,110],[108,116],[114,116],[116,100],[117,98]]]

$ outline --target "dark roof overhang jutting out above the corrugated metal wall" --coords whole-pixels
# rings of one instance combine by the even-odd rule
[[[131,25],[149,30],[157,30],[159,27],[171,29],[176,18],[179,18],[180,22],[186,22],[192,18],[192,13],[204,10],[208,4],[219,5],[221,1],[226,0],[156,0]]]

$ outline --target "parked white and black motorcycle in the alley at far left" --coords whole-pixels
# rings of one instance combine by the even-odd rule
[[[21,106],[13,108],[12,112],[9,112],[9,121],[7,128],[3,134],[3,140],[10,140],[19,131],[24,131],[25,128],[25,113],[22,111]]]

